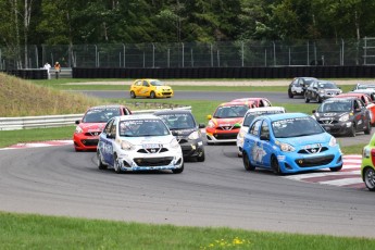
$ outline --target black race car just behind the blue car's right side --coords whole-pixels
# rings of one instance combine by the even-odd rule
[[[313,110],[313,117],[332,135],[354,137],[358,132],[370,135],[372,130],[370,111],[354,97],[329,98]]]

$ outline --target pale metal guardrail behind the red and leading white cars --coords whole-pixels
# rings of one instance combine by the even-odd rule
[[[138,110],[132,111],[133,114],[152,114],[158,110]],[[162,109],[171,110],[171,109]],[[191,107],[174,108],[174,110],[191,110]],[[84,114],[65,114],[65,115],[42,115],[42,116],[24,116],[24,117],[0,117],[0,130],[17,130],[25,128],[47,128],[62,127],[75,124]]]

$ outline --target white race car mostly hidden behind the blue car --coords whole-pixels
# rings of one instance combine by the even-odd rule
[[[245,135],[248,133],[250,124],[257,116],[264,115],[264,114],[278,114],[278,113],[285,113],[285,112],[286,111],[283,107],[263,107],[263,108],[249,109],[243,116],[241,129],[239,130],[237,135],[236,143],[238,148],[238,157],[242,157]]]

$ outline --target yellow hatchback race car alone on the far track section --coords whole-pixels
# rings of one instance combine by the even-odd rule
[[[136,79],[130,86],[130,97],[171,98],[173,89],[159,79]]]

